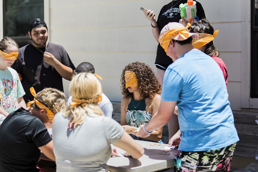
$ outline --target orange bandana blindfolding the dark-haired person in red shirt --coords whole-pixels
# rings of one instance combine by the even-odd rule
[[[219,30],[215,30],[213,35],[210,34],[203,34],[203,33],[196,33],[198,34],[198,38],[192,38],[192,46],[194,48],[200,48],[209,42],[211,42],[214,37],[218,34]]]

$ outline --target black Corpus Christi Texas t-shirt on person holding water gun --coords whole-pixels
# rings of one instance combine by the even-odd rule
[[[179,20],[181,19],[179,5],[181,3],[183,4],[187,3],[187,0],[174,1],[173,7],[172,7],[172,2],[162,7],[157,19],[159,31],[161,31],[162,28],[169,22],[179,22]],[[199,20],[205,18],[203,7],[197,1],[196,1],[196,15],[199,18]],[[166,55],[166,52],[164,51],[164,49],[158,44],[155,64],[170,65],[171,63],[173,63],[172,59]]]

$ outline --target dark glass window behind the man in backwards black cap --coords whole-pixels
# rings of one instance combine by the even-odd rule
[[[13,38],[19,47],[31,43],[29,22],[34,18],[44,20],[44,0],[3,0],[4,36]]]

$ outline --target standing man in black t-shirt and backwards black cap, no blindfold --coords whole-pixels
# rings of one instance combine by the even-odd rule
[[[47,42],[48,29],[42,19],[30,21],[28,34],[33,43],[19,48],[12,65],[20,76],[26,103],[33,100],[30,87],[36,92],[47,87],[63,91],[62,78],[71,80],[75,69],[64,47]]]

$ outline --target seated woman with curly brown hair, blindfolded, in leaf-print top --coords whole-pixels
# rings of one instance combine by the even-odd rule
[[[163,143],[162,130],[159,128],[149,137],[136,137],[137,128],[150,121],[152,114],[158,111],[161,88],[149,65],[142,62],[127,64],[120,79],[121,125],[135,140]]]

